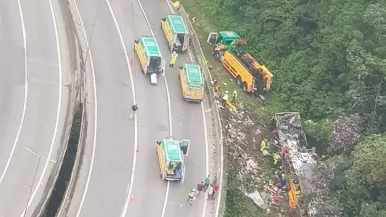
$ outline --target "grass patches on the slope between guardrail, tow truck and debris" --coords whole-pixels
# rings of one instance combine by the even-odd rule
[[[233,90],[238,90],[238,98],[236,100],[236,107],[241,106],[248,111],[248,113],[254,117],[256,121],[259,121],[265,128],[267,128],[267,121],[272,114],[279,112],[281,106],[276,102],[275,96],[270,93],[268,98],[268,104],[264,106],[261,101],[256,97],[251,97],[245,93],[242,93],[238,88],[232,77],[225,71],[221,63],[216,61],[211,53],[211,47],[206,42],[208,34],[210,32],[221,31],[217,29],[211,23],[210,9],[205,6],[204,0],[182,0],[180,1],[184,7],[186,13],[190,17],[196,17],[196,22],[193,23],[196,33],[198,34],[200,43],[202,45],[205,57],[208,60],[208,65],[211,66],[212,76],[220,81],[221,91],[228,90],[232,93]],[[232,30],[229,30],[232,31]],[[259,159],[259,166],[262,170],[272,171],[270,167],[272,164],[271,159]],[[228,168],[231,170],[231,168]],[[234,171],[229,171],[228,174],[234,174]],[[254,203],[239,190],[239,183],[233,176],[227,177],[227,199],[224,216],[226,217],[252,217],[252,216],[266,216],[262,209],[255,206]]]

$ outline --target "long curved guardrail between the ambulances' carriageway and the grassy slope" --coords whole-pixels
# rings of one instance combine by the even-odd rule
[[[172,2],[170,2],[170,4],[173,5]],[[226,176],[226,174],[225,174],[226,171],[224,171],[224,146],[223,146],[223,135],[222,135],[222,123],[221,123],[219,109],[214,101],[214,99],[216,98],[216,95],[215,95],[214,87],[212,87],[212,85],[211,85],[211,81],[213,80],[212,74],[211,74],[211,70],[209,69],[208,65],[203,64],[203,63],[206,63],[207,60],[205,58],[204,51],[201,47],[201,43],[200,43],[199,37],[196,33],[194,26],[192,25],[192,23],[188,19],[187,13],[186,13],[185,9],[183,8],[183,6],[178,4],[178,7],[179,7],[179,10],[175,10],[175,8],[173,7],[174,11],[183,17],[185,23],[188,23],[189,31],[194,33],[195,37],[191,40],[190,50],[194,54],[196,61],[198,63],[200,63],[201,67],[203,68],[204,78],[205,78],[205,82],[206,82],[207,100],[209,101],[209,105],[211,107],[211,112],[214,113],[213,117],[215,118],[214,125],[215,125],[215,130],[216,130],[216,133],[215,133],[216,147],[217,147],[217,151],[219,151],[219,152],[217,152],[218,153],[217,161],[220,162],[220,166],[219,166],[219,168],[217,168],[216,171],[218,171],[217,173],[218,173],[218,177],[219,177],[220,191],[219,191],[218,196],[217,196],[216,201],[215,201],[215,210],[213,210],[213,211],[214,211],[216,217],[219,215],[223,216],[223,212],[225,209],[225,199],[226,199],[226,180],[224,180],[224,177]],[[199,49],[197,49],[197,48],[199,48]],[[221,201],[224,201],[224,202],[221,203]]]

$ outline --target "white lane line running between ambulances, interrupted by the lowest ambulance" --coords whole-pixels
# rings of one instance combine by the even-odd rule
[[[137,0],[137,2],[138,2],[138,5],[140,6],[141,12],[142,12],[142,14],[143,14],[143,16],[144,16],[144,18],[146,20],[146,23],[147,23],[147,25],[149,27],[150,34],[152,35],[154,40],[156,40],[155,36],[154,36],[153,29],[152,29],[152,27],[150,25],[150,21],[149,21],[148,17],[146,16],[144,7],[142,6],[140,0]],[[166,74],[164,76],[164,82],[165,82],[165,88],[166,88],[167,105],[168,105],[168,113],[169,113],[169,136],[172,136],[173,135],[173,127],[172,127],[172,116],[171,116],[170,92],[169,92],[169,86],[168,86],[167,80],[166,80]],[[168,200],[168,197],[169,197],[169,189],[170,189],[170,181],[167,182],[164,203],[163,203],[163,206],[162,206],[161,217],[163,217],[165,215],[167,200]],[[125,209],[127,209],[127,206],[125,206]],[[121,215],[121,217],[124,217],[124,215]]]

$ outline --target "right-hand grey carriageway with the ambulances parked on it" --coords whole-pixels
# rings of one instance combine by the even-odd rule
[[[149,84],[134,54],[134,40],[154,34],[168,63],[160,21],[170,9],[163,0],[140,3],[76,1],[80,37],[87,38],[83,46],[90,46],[86,69],[89,84],[95,85],[90,104],[97,107],[97,130],[89,132],[66,216],[204,216],[204,196],[193,206],[186,201],[208,170],[203,107],[183,101],[178,81],[177,66],[190,58],[180,54],[175,68],[166,66],[157,86]],[[134,102],[139,110],[129,120]],[[159,176],[155,141],[169,135],[191,140],[184,183],[162,182]]]

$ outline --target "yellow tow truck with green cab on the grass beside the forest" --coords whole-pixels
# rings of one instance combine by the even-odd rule
[[[207,42],[211,44],[213,55],[236,79],[244,92],[254,93],[265,101],[263,92],[269,91],[273,75],[266,66],[256,61],[247,52],[247,41],[231,31],[212,32]]]

